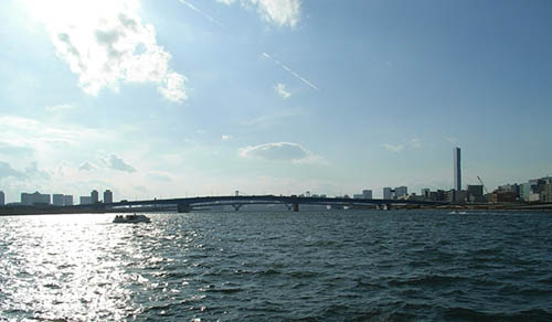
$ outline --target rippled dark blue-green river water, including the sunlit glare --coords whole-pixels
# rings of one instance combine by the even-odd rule
[[[0,321],[551,321],[552,215],[0,217]]]

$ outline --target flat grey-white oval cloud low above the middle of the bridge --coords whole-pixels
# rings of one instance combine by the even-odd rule
[[[257,158],[270,161],[291,161],[294,163],[312,163],[321,158],[311,153],[300,144],[290,142],[265,143],[241,148],[240,157]]]

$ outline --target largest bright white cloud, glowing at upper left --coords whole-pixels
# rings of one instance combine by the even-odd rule
[[[171,101],[187,99],[185,77],[170,71],[153,25],[138,15],[137,0],[26,0],[50,34],[57,56],[89,95],[119,83],[153,83]]]

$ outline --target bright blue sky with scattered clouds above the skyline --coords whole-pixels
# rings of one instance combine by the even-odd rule
[[[0,190],[489,190],[552,174],[552,2],[6,0]]]

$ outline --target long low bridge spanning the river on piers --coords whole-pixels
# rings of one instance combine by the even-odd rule
[[[237,211],[243,205],[252,204],[284,204],[294,212],[299,211],[300,204],[318,205],[376,205],[391,208],[392,205],[444,205],[448,203],[431,201],[410,200],[383,200],[383,198],[346,198],[346,197],[309,197],[309,196],[284,196],[284,195],[229,195],[229,196],[195,196],[181,198],[155,198],[145,201],[121,201],[113,204],[97,204],[98,207],[114,208],[123,206],[155,206],[176,205],[179,213],[189,213],[193,206],[221,206],[233,205]]]

